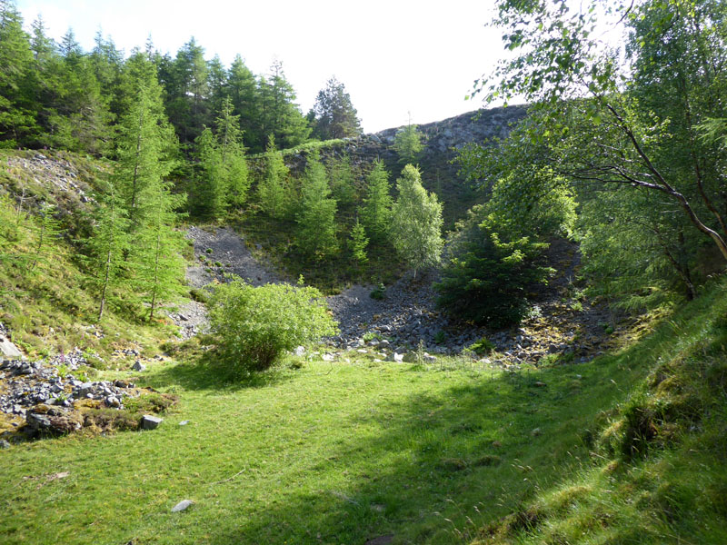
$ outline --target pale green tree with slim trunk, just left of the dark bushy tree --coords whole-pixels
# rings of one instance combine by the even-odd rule
[[[399,198],[393,205],[390,237],[396,252],[414,270],[434,265],[442,252],[442,204],[422,186],[422,175],[412,164],[396,181]]]

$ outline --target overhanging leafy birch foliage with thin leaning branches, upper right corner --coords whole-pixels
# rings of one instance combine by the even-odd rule
[[[597,192],[583,191],[593,203],[582,228],[587,260],[595,258],[593,269],[601,271],[593,278],[611,284],[603,291],[641,298],[657,283],[661,292],[678,287],[693,298],[695,270],[709,261],[702,242],[727,259],[719,189],[727,150],[711,121],[727,117],[715,99],[727,88],[718,68],[725,61],[724,5],[617,2],[605,14],[558,2],[503,0],[498,7],[493,25],[515,54],[478,82],[475,94],[489,85],[487,100],[517,96],[533,105],[500,158],[482,148],[479,158],[464,154],[470,172],[484,166],[478,177],[486,179],[497,163],[513,173],[548,166],[589,190],[595,185]],[[604,15],[628,33],[625,55],[595,37]],[[496,175],[504,177],[502,168]],[[631,290],[625,278],[618,287],[605,274],[609,266],[620,270],[616,248],[626,240],[632,245],[623,259],[648,263],[641,274],[626,271]]]

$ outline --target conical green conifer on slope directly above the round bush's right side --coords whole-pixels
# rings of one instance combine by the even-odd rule
[[[335,236],[336,202],[330,198],[330,194],[325,167],[319,161],[318,154],[311,154],[301,185],[300,212],[296,222],[298,247],[316,260],[338,251]]]

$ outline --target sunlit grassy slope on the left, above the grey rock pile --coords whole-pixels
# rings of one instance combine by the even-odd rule
[[[0,161],[7,156],[27,159],[33,154],[3,152]],[[58,162],[72,164],[84,183],[98,183],[92,180],[92,173],[98,174],[103,164],[73,154],[59,152],[52,156]],[[20,167],[0,173],[0,322],[12,332],[13,342],[30,357],[67,353],[75,346],[107,357],[115,348],[132,343],[146,348],[146,355],[153,355],[156,345],[174,334],[174,325],[146,322],[145,308],[126,287],[115,292],[115,304],[109,305],[104,320],[97,322],[98,301],[87,289],[89,282],[79,256],[83,247],[79,241],[83,240],[88,217],[77,203],[59,200],[64,192],[46,191],[52,184],[41,183],[33,176]],[[15,201],[15,196],[21,194],[28,199],[22,209]],[[67,210],[61,222],[63,235],[45,237],[38,251],[39,229],[34,214],[40,202],[65,206]]]

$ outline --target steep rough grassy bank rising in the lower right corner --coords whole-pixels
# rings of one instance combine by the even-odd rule
[[[727,282],[602,359],[650,372],[589,432],[592,461],[472,543],[727,542]],[[608,363],[607,363],[608,364]]]

